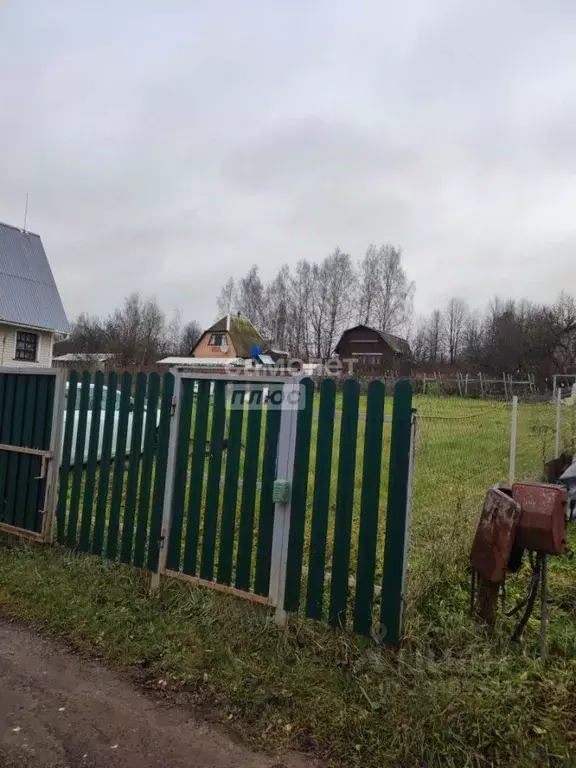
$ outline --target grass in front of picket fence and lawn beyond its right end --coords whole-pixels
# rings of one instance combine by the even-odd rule
[[[430,397],[416,398],[415,406],[408,601],[398,652],[295,616],[280,631],[264,608],[181,583],[164,582],[151,599],[141,571],[59,548],[0,550],[0,612],[133,670],[154,689],[167,681],[167,694],[184,693],[264,748],[297,748],[328,764],[368,768],[576,764],[571,554],[550,563],[545,665],[537,658],[538,610],[521,645],[510,642],[513,619],[499,621],[487,637],[468,615],[471,538],[486,489],[508,476],[510,408]],[[573,444],[573,422],[571,411],[563,413],[565,446]],[[519,479],[540,477],[554,429],[550,405],[520,407]],[[361,421],[358,468],[363,430]],[[316,418],[312,432],[308,518]],[[338,432],[339,421],[335,465]],[[354,534],[360,488],[357,473]],[[335,482],[332,506],[334,489]],[[382,519],[385,504],[384,493]],[[381,525],[379,568],[383,535]],[[509,604],[527,578],[524,568],[508,580]]]

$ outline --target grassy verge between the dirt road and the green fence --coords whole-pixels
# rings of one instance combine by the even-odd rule
[[[151,599],[142,572],[63,549],[0,549],[4,617],[185,694],[256,746],[368,768],[576,756],[573,662],[553,647],[544,668],[532,627],[525,648],[483,637],[465,603],[461,587],[439,599],[394,653],[297,619],[280,631],[263,608],[176,582]]]

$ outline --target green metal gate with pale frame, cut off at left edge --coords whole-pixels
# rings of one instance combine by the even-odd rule
[[[63,393],[54,369],[0,368],[0,530],[51,537]]]

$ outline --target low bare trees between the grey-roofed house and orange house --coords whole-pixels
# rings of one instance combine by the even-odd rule
[[[57,354],[107,352],[118,365],[150,365],[167,355],[189,355],[201,335],[196,321],[183,325],[178,310],[168,318],[155,298],[133,293],[104,317],[80,314]]]

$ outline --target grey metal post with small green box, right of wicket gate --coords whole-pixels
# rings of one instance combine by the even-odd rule
[[[282,415],[278,437],[278,460],[276,479],[290,483],[290,495],[294,484],[294,453],[296,446],[296,428],[300,403],[301,377],[295,376],[284,384],[282,397]],[[274,528],[272,531],[272,557],[270,562],[270,604],[275,606],[275,621],[279,626],[286,624],[284,595],[286,592],[286,572],[288,563],[288,540],[290,538],[290,496],[286,502],[274,505]]]

